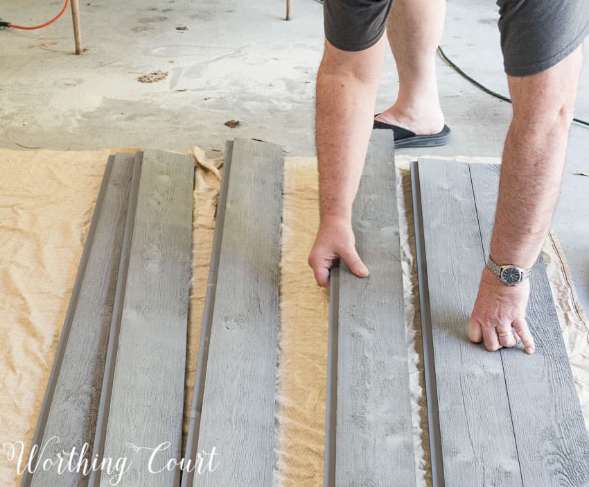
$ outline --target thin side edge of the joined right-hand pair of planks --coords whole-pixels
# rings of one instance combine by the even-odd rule
[[[415,248],[417,258],[417,279],[419,282],[419,308],[421,311],[421,332],[423,341],[423,368],[425,371],[425,400],[428,407],[428,430],[430,435],[430,463],[432,485],[444,486],[441,431],[438,412],[438,391],[434,363],[434,344],[432,316],[430,310],[430,291],[428,284],[428,264],[425,258],[423,235],[423,215],[421,213],[421,189],[419,187],[419,163],[411,162],[411,189],[415,228]]]

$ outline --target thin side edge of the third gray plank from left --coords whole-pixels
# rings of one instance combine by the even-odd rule
[[[209,265],[209,280],[206,284],[206,297],[204,301],[204,314],[202,317],[202,329],[200,332],[200,344],[194,382],[193,400],[191,406],[190,425],[188,427],[188,438],[186,438],[186,452],[184,462],[193,463],[198,445],[198,433],[200,430],[200,415],[202,411],[202,398],[204,395],[204,382],[206,380],[206,364],[209,358],[209,341],[211,339],[211,325],[213,324],[213,309],[215,307],[215,296],[217,287],[217,273],[219,268],[219,257],[221,252],[221,241],[223,237],[223,226],[225,223],[225,204],[227,203],[227,191],[229,191],[229,173],[231,172],[231,155],[233,154],[233,141],[225,143],[225,160],[223,161],[223,172],[221,176],[221,187],[215,217],[215,234],[213,236],[213,248],[211,251],[211,263]],[[193,483],[194,465],[189,465],[186,471],[177,470],[177,475],[182,479],[182,487],[189,487]],[[179,477],[176,478],[179,481]]]

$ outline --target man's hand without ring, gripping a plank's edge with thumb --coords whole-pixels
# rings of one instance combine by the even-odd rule
[[[329,287],[331,262],[338,257],[355,275],[367,277],[368,268],[356,252],[355,237],[349,219],[324,216],[308,260],[319,286]]]

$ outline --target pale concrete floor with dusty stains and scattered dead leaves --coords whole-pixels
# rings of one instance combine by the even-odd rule
[[[3,2],[0,17],[31,24],[53,17],[61,0]],[[315,74],[322,55],[322,5],[285,1],[84,0],[82,39],[73,55],[69,15],[42,31],[0,31],[0,145],[17,149],[143,146],[187,151],[222,148],[226,139],[255,137],[282,144],[288,155],[314,155]],[[497,8],[489,0],[450,0],[442,45],[482,83],[507,94]],[[187,26],[188,31],[176,27]],[[53,44],[55,43],[55,44]],[[441,60],[439,91],[452,142],[428,154],[499,156],[511,107],[480,92]],[[137,77],[168,71],[166,80]],[[577,117],[589,119],[589,62]],[[377,110],[396,93],[387,55]],[[223,123],[237,119],[240,125]],[[417,149],[406,150],[419,155]],[[421,151],[423,153],[423,150]],[[581,302],[589,309],[589,128],[571,129],[568,164],[554,228],[570,261]]]

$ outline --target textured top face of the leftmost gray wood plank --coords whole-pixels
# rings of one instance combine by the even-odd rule
[[[39,447],[46,450],[40,460],[55,460],[55,452],[82,452],[91,456],[100,400],[109,327],[118,275],[118,261],[125,228],[134,155],[117,154],[105,172],[107,187],[98,202],[89,231],[87,262],[80,265],[80,288],[71,311],[71,323],[62,331],[62,353],[55,357],[55,391],[42,425]],[[78,471],[58,472],[57,466],[40,467],[23,486],[82,486]],[[30,484],[29,484],[30,481]]]

